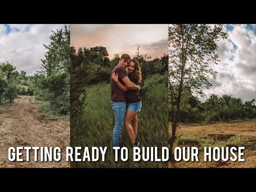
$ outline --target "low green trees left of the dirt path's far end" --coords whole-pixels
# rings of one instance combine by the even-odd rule
[[[11,63],[0,63],[0,104],[2,100],[12,103],[18,95],[33,95],[30,78],[25,71],[19,73]]]

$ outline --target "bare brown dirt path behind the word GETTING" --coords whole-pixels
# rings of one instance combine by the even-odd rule
[[[0,167],[69,167],[65,159],[65,148],[70,146],[70,122],[44,116],[39,103],[33,96],[20,96],[14,104],[2,109],[0,113]],[[23,162],[10,162],[8,148],[10,146],[60,147],[62,159],[59,162],[34,162],[34,152],[26,162],[26,151],[22,151]],[[40,153],[38,154],[40,160]]]

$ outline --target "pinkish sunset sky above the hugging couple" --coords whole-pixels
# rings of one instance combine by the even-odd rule
[[[168,54],[168,24],[72,24],[70,45],[87,48],[105,46],[109,58],[114,54],[140,54],[152,58]]]

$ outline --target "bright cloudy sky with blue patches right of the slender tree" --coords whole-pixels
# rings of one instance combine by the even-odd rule
[[[256,24],[227,24],[227,40],[220,40],[220,64],[212,65],[218,72],[210,94],[231,94],[243,101],[256,99]]]

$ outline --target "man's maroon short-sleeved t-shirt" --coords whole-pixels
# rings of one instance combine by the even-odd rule
[[[125,85],[124,82],[122,81],[122,78],[127,77],[125,67],[117,65],[113,69],[112,73],[113,72],[115,72],[115,74],[118,73],[118,81],[123,85]],[[111,87],[111,100],[114,102],[125,102],[124,91],[118,87],[116,82],[111,77],[110,77],[110,87]]]

